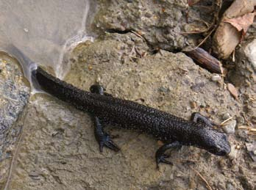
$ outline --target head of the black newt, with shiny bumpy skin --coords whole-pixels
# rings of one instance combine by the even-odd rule
[[[205,128],[200,144],[202,148],[216,156],[226,156],[230,153],[230,142],[227,135],[211,128]]]

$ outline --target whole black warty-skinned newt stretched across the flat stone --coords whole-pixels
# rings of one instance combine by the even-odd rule
[[[103,89],[97,85],[90,88],[91,92],[86,92],[60,81],[40,67],[32,74],[43,90],[93,115],[96,139],[101,150],[103,146],[119,150],[110,136],[103,131],[103,122],[117,124],[122,128],[138,129],[165,142],[166,145],[157,150],[157,166],[160,162],[171,164],[166,161],[164,152],[180,145],[199,147],[217,156],[230,153],[226,134],[214,130],[212,123],[200,114],[194,114],[193,121],[183,120],[149,106],[104,95]]]

